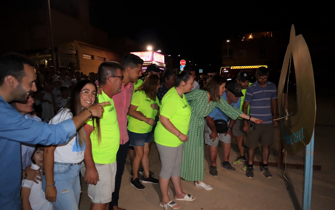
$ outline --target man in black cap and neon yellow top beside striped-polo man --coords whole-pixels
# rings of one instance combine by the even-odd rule
[[[242,108],[243,108],[243,102],[244,102],[244,97],[245,97],[247,88],[249,87],[249,85],[252,84],[250,82],[250,79],[251,79],[251,77],[249,76],[248,72],[246,72],[246,71],[241,71],[237,75],[236,82],[241,85],[242,93],[243,93],[243,96],[241,96],[241,106],[240,106],[241,111],[242,111]],[[249,107],[248,107],[248,115],[249,115]],[[237,148],[239,149],[239,152],[240,152],[240,157],[237,157],[236,160],[234,160],[232,162],[232,164],[233,165],[239,165],[239,164],[242,164],[244,160],[246,160],[246,156],[244,154],[244,144],[243,144],[244,131],[243,131],[243,119],[242,118],[236,119],[236,122],[235,122],[234,126],[232,127],[232,133],[233,133],[233,136],[236,137]],[[247,166],[246,165],[243,166],[241,168],[241,170],[246,171]]]

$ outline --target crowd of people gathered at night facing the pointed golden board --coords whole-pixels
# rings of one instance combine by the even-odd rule
[[[159,184],[159,206],[179,209],[169,197],[170,181],[177,201],[196,199],[183,191],[181,179],[212,190],[204,182],[204,144],[209,145],[209,173],[218,176],[218,142],[224,153],[220,166],[235,171],[229,163],[231,139],[237,139],[240,157],[232,164],[238,165],[247,159],[244,134],[246,176],[253,178],[259,140],[261,172],[272,176],[267,160],[277,125],[277,95],[266,68],[260,67],[257,81],[250,84],[247,72],[228,83],[221,75],[198,77],[192,65],[178,71],[151,64],[142,76],[143,63],[129,53],[122,63],[102,62],[87,78],[73,64],[61,67],[57,76],[53,66],[40,65],[36,71],[23,55],[0,57],[0,106],[5,111],[0,167],[13,168],[0,174],[1,207],[78,209],[81,174],[91,210],[122,210],[118,201],[129,154],[130,185],[143,190],[143,184]],[[158,179],[149,170],[153,142],[161,161]]]

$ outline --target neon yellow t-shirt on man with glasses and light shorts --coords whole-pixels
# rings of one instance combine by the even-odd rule
[[[111,104],[104,106],[103,117],[100,118],[101,142],[98,145],[97,132],[94,130],[91,135],[92,156],[95,163],[110,164],[116,161],[116,153],[120,145],[120,130],[118,117],[113,99],[108,97],[104,91],[98,97],[99,103],[111,101]],[[93,126],[92,119],[86,121]]]

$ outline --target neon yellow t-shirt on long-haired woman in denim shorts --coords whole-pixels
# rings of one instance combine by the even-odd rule
[[[142,90],[136,91],[131,98],[130,104],[137,106],[136,111],[142,112],[147,118],[152,118],[155,120],[157,111],[150,107],[151,104],[157,103],[158,107],[160,106],[159,100],[156,96],[156,100],[152,100],[145,95],[145,92]],[[133,117],[130,117],[128,120],[127,129],[134,133],[148,133],[152,130],[152,125],[147,124],[144,121],[137,120]]]

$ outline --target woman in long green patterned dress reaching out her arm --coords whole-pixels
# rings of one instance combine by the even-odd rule
[[[186,181],[195,181],[195,187],[212,190],[210,185],[202,182],[205,176],[204,160],[204,117],[218,107],[231,119],[238,117],[251,120],[254,123],[263,121],[244,114],[241,110],[231,107],[228,102],[221,98],[225,91],[226,79],[220,75],[214,75],[201,89],[195,89],[185,93],[190,102],[192,112],[190,125],[187,132],[188,141],[184,142],[183,158],[181,164],[181,178]],[[221,99],[221,100],[220,100]]]

